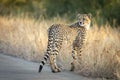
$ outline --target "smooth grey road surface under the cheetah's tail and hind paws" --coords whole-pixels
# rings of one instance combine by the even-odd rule
[[[93,80],[70,71],[52,73],[48,66],[38,73],[38,67],[38,63],[0,54],[0,80]]]

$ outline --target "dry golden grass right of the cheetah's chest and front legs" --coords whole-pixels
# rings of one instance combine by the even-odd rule
[[[113,78],[120,72],[118,70],[120,32],[109,25],[101,26],[101,28],[94,26],[88,32],[82,57],[79,57],[79,72],[85,76]]]

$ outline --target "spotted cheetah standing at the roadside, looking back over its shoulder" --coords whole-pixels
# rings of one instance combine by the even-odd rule
[[[78,14],[77,18],[78,20],[71,25],[53,24],[48,29],[47,50],[46,54],[43,57],[43,60],[41,60],[38,72],[41,72],[48,59],[52,72],[61,72],[61,68],[59,68],[56,64],[56,56],[59,54],[62,43],[66,36],[72,37],[70,39],[72,41],[71,53],[73,61],[71,62],[70,70],[74,71],[77,55],[81,55],[81,48],[83,47],[86,33],[89,30],[91,24],[91,14]]]

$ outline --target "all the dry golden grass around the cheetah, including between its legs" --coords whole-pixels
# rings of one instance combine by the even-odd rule
[[[31,61],[40,61],[47,46],[47,29],[53,23],[68,23],[65,19],[31,20],[28,17],[0,17],[0,52]],[[70,68],[71,45],[65,42],[59,62]],[[64,57],[62,56],[64,55]],[[120,79],[120,30],[110,25],[93,25],[87,35],[77,72],[85,76]]]

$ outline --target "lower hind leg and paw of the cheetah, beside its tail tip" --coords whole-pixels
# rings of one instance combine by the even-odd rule
[[[56,64],[56,54],[51,54],[49,60],[52,72],[53,73],[61,72],[61,69]]]

